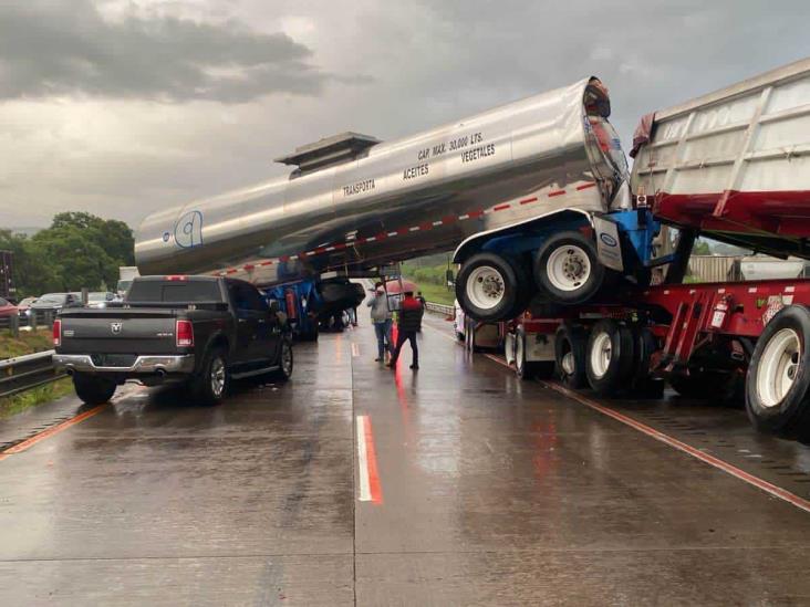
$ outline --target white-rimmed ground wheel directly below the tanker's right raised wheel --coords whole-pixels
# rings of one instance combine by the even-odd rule
[[[627,387],[635,362],[633,333],[612,318],[599,321],[588,338],[585,373],[599,396],[614,396]]]

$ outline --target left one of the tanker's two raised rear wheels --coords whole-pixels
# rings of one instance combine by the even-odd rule
[[[508,321],[526,307],[528,283],[520,264],[497,253],[476,253],[458,272],[456,299],[477,321]]]

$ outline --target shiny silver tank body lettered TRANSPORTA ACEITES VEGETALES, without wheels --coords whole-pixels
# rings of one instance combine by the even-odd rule
[[[399,140],[305,146],[282,159],[300,167],[289,178],[146,218],[137,264],[272,284],[450,251],[561,209],[605,210],[626,171],[609,114],[591,77]]]

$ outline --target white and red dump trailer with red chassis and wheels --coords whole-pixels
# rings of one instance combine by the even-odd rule
[[[698,236],[810,258],[810,60],[651,114],[634,144],[633,209],[603,219],[640,253],[655,249],[644,226],[677,231],[674,253],[646,262],[661,284],[529,310],[509,323],[508,359],[525,377],[551,376],[553,359],[602,396],[665,378],[683,396],[745,398],[756,428],[810,438],[810,280],[683,284]]]

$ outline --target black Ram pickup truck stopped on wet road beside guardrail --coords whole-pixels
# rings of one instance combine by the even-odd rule
[[[292,375],[283,314],[250,283],[215,276],[141,276],[106,308],[63,310],[53,357],[84,402],[106,402],[116,386],[187,383],[198,401],[217,404],[230,379]]]

